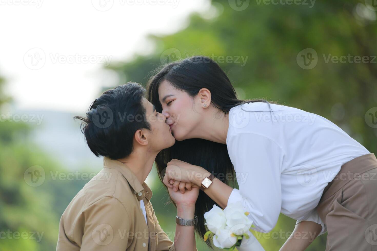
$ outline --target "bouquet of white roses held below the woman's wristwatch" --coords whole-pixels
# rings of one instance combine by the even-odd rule
[[[241,202],[227,205],[224,210],[216,205],[204,214],[208,232],[204,234],[207,241],[210,234],[213,236],[213,245],[229,251],[264,251],[261,244],[250,233],[251,221]],[[236,248],[238,246],[238,249]]]

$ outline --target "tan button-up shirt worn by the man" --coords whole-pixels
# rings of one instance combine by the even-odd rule
[[[77,193],[61,216],[56,250],[174,251],[173,242],[158,224],[147,184],[141,185],[120,161],[104,157],[103,164],[104,169]]]

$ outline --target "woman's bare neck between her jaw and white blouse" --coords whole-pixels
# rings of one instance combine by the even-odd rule
[[[213,142],[226,144],[229,128],[229,114],[226,114],[215,107],[208,107],[203,114],[204,119],[196,127],[195,135],[190,138],[203,138]]]

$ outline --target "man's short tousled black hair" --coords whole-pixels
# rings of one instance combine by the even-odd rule
[[[150,130],[142,103],[145,93],[138,83],[119,85],[94,100],[86,116],[74,117],[82,120],[81,132],[94,155],[116,160],[131,154],[135,132]]]

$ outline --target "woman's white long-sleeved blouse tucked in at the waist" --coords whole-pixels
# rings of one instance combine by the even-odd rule
[[[297,223],[314,221],[326,226],[315,208],[323,189],[342,164],[370,152],[322,116],[267,103],[231,108],[227,148],[239,190],[228,204],[242,201],[254,230],[269,232],[279,213]],[[248,112],[262,111],[262,112]]]

